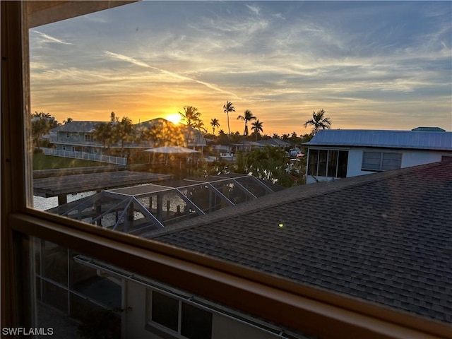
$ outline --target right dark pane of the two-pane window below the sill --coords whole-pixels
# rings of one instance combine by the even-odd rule
[[[212,314],[190,304],[182,303],[181,334],[189,339],[210,339]]]

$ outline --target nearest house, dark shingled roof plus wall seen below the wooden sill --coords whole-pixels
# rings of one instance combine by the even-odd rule
[[[451,185],[444,160],[295,186],[141,237],[447,326]],[[121,285],[127,338],[304,338],[93,258],[75,261]]]

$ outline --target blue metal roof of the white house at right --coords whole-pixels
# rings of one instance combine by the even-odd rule
[[[452,132],[330,129],[320,130],[304,145],[452,150]]]

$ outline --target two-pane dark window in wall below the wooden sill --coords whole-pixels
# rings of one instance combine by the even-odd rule
[[[212,314],[169,295],[152,291],[150,324],[157,323],[184,338],[210,339]]]

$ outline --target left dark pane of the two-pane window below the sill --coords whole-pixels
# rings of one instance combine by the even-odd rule
[[[177,331],[179,319],[179,301],[167,295],[153,291],[152,321]]]

